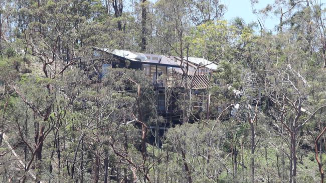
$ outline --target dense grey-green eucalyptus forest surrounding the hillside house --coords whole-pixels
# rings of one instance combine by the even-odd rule
[[[297,182],[320,180],[314,140],[326,109],[314,111],[326,102],[326,11],[317,1],[254,9],[261,19],[277,16],[275,30],[261,19],[221,19],[219,0],[0,4],[3,182],[38,181],[29,173],[56,182],[102,182],[105,175],[108,182],[251,182],[252,166],[254,182],[288,182],[294,163]],[[92,46],[140,51],[142,38],[147,53],[215,61],[211,87],[158,91],[141,69],[108,68],[99,76],[103,63],[116,60],[93,60]],[[164,92],[182,107],[160,114]],[[204,104],[188,108],[195,102]],[[316,145],[325,164],[323,135]]]

